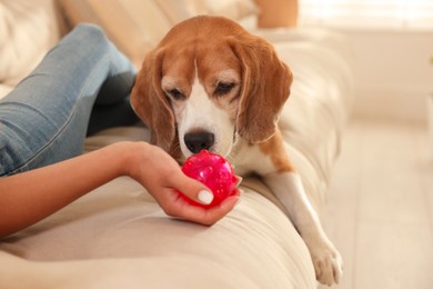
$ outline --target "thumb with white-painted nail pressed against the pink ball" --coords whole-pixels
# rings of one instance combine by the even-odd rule
[[[183,172],[173,178],[173,183],[175,183],[175,189],[195,202],[209,205],[213,200],[213,193],[207,186]]]

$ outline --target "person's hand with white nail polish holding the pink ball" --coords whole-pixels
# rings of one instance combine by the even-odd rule
[[[129,176],[139,181],[157,200],[163,211],[201,225],[211,226],[230,212],[239,200],[240,190],[221,205],[204,209],[182,199],[182,191],[190,199],[208,205],[213,195],[203,183],[187,177],[178,162],[162,149],[145,143],[133,143]]]

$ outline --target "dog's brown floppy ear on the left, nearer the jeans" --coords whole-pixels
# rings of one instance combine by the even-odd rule
[[[175,139],[175,120],[161,89],[163,49],[150,51],[143,61],[131,92],[131,106],[149,126],[151,143],[169,151]]]

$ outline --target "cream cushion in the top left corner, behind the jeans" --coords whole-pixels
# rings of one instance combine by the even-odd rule
[[[0,0],[0,83],[17,84],[60,38],[52,0]]]

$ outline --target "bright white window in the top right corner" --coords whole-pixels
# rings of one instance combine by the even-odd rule
[[[433,30],[433,0],[299,0],[303,26]]]

